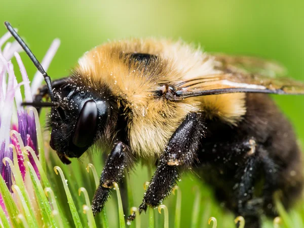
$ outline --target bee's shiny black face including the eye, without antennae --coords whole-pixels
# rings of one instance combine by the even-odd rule
[[[110,103],[71,81],[54,92],[60,107],[51,110],[50,145],[60,158],[79,158],[97,135],[103,134],[109,122]]]

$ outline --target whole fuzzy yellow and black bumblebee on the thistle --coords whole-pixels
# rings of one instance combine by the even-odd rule
[[[24,105],[52,106],[50,145],[61,161],[70,163],[94,144],[111,148],[94,214],[113,182],[140,160],[158,163],[139,212],[161,204],[186,169],[199,173],[247,228],[260,227],[261,214],[276,216],[275,192],[285,207],[299,197],[301,151],[268,94],[303,94],[304,84],[284,78],[277,63],[210,55],[183,42],[132,39],[93,48],[68,77],[52,83],[5,24],[45,77],[46,86]]]

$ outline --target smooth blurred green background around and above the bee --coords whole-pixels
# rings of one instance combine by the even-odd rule
[[[0,7],[0,22],[8,20],[18,28],[39,59],[52,40],[59,37],[61,46],[48,71],[53,79],[67,75],[85,51],[103,42],[156,36],[181,38],[200,44],[206,51],[275,59],[288,68],[291,77],[304,81],[304,1],[301,0],[3,0]],[[5,27],[0,26],[0,34],[5,32]],[[24,53],[21,56],[32,77],[34,66]],[[304,142],[304,96],[274,98],[292,121],[299,141]],[[132,174],[136,206],[143,196],[142,183],[148,180],[145,168],[137,167],[137,170],[143,172]],[[191,220],[195,197],[192,186],[200,184],[197,179],[195,175],[184,175],[180,182],[182,227],[187,227]],[[209,201],[212,196],[209,188],[200,187],[204,189],[203,201]],[[209,215],[219,216],[217,205],[211,206],[215,208],[210,209]],[[218,220],[224,219],[218,217]]]

